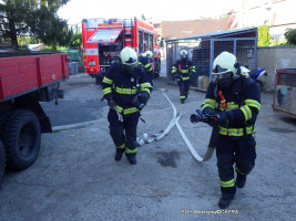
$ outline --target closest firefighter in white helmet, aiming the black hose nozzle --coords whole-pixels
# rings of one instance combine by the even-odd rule
[[[236,57],[222,52],[213,63],[213,78],[202,104],[203,114],[217,113],[220,136],[216,145],[222,197],[225,209],[243,188],[255,166],[255,122],[261,110],[261,94],[255,81],[241,73]],[[236,180],[235,180],[236,173]]]

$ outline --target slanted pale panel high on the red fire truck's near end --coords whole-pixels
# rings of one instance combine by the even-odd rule
[[[98,30],[90,39],[90,42],[114,42],[122,29]]]

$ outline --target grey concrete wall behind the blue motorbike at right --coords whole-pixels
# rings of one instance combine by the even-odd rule
[[[263,46],[257,49],[257,66],[264,67],[267,77],[262,76],[265,91],[274,91],[277,69],[296,69],[296,46]]]

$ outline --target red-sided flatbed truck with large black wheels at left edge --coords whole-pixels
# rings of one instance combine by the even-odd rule
[[[0,53],[0,182],[4,167],[22,170],[38,157],[51,123],[39,102],[61,96],[69,77],[65,53]]]

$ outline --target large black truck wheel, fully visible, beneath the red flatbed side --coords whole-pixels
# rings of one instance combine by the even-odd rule
[[[23,170],[30,167],[41,144],[41,128],[35,114],[29,109],[11,112],[2,133],[8,168]]]

